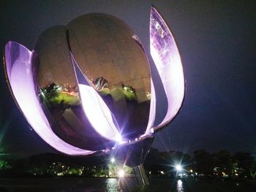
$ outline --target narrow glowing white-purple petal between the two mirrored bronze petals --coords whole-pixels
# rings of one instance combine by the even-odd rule
[[[102,137],[120,142],[121,135],[116,128],[117,123],[115,124],[113,122],[115,118],[108,109],[107,104],[105,104],[97,91],[91,87],[87,77],[76,63],[72,53],[70,53],[70,55],[75,69],[75,77],[78,81],[78,90],[83,112],[85,112],[91,126],[93,126]]]

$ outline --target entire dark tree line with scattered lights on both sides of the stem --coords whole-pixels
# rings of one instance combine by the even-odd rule
[[[118,169],[110,163],[111,154],[69,156],[56,153],[32,155],[29,158],[0,158],[0,177],[30,176],[79,176],[109,177]],[[118,159],[116,159],[118,163]],[[176,165],[182,166],[184,174],[204,174],[212,177],[248,177],[256,179],[256,160],[246,152],[230,153],[220,150],[209,153],[196,150],[192,155],[179,151],[151,148],[144,162],[148,176],[177,174]],[[129,169],[132,174],[132,169]]]

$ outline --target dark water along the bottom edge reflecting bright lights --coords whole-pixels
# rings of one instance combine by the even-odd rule
[[[126,178],[119,184],[111,179],[0,179],[0,191],[10,192],[93,192],[93,191],[170,191],[170,192],[253,192],[256,181],[197,181],[187,180],[151,180],[151,185],[138,188],[135,179]]]

